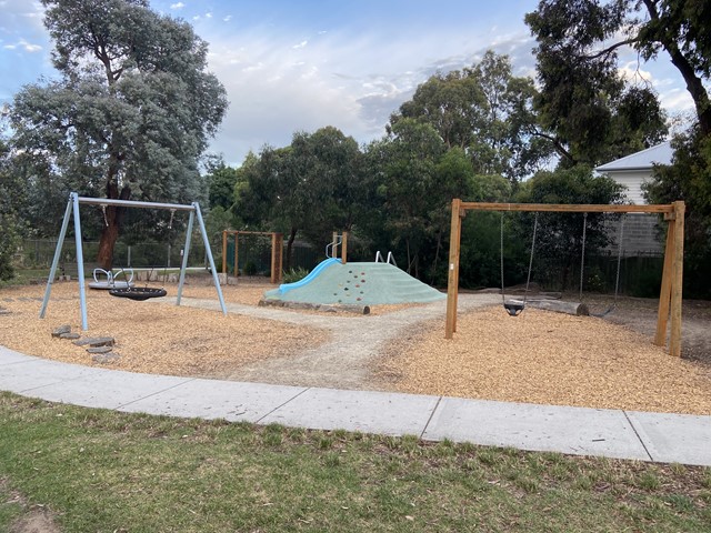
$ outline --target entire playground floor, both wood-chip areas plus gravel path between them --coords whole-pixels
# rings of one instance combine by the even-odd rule
[[[500,296],[462,294],[459,331],[444,341],[443,302],[375,306],[374,316],[303,313],[258,308],[266,288],[224,288],[228,318],[214,312],[208,286],[188,288],[181,308],[170,299],[129,303],[92,291],[89,334],[114,336],[121,359],[111,368],[132,372],[711,414],[708,364],[670,358],[649,336],[600,319],[531,310],[511,319],[485,309]],[[0,344],[90,365],[86,351],[49,335],[78,322],[76,284],[54,288],[43,321],[42,289],[0,291],[10,311],[0,316]]]

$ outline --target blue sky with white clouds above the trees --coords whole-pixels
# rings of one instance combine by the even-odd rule
[[[152,0],[190,22],[209,43],[209,70],[227,89],[229,110],[210,152],[239,165],[251,150],[284,147],[297,131],[326,125],[365,143],[437,72],[477,63],[492,49],[515,76],[535,77],[523,17],[533,0]],[[36,0],[0,0],[0,105],[27,83],[49,80],[52,42]],[[661,54],[621,70],[652,84],[671,115],[692,107]]]

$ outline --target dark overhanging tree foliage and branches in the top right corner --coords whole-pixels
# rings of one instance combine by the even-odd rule
[[[667,56],[683,79],[704,134],[711,104],[711,4],[698,0],[542,0],[525,21],[538,41],[541,119],[570,163],[597,164],[648,148],[667,134],[649,82],[619,74],[619,53]]]

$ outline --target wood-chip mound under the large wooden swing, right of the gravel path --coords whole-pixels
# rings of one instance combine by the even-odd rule
[[[711,375],[601,319],[501,308],[441,321],[389,345],[381,375],[419,394],[711,414]]]

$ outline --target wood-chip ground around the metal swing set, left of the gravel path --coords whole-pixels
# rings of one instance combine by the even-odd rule
[[[204,288],[208,289],[208,288]],[[78,289],[56,284],[47,318],[38,318],[43,286],[0,291],[0,344],[29,355],[79,364],[93,364],[83,348],[52,339],[64,323],[81,331]],[[174,293],[174,291],[169,291]],[[244,291],[244,300],[256,291]],[[184,292],[190,296],[189,290]],[[212,288],[212,295],[214,289]],[[229,300],[228,300],[229,301]],[[88,291],[90,330],[84,335],[113,336],[121,354],[111,368],[131,372],[216,376],[258,360],[297,354],[328,339],[328,333],[270,320],[170,304],[133,302],[103,291]]]

